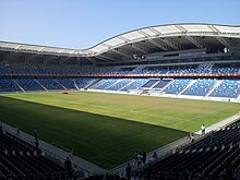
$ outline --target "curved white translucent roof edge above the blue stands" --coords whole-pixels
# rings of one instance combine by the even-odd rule
[[[167,24],[133,29],[106,39],[88,49],[70,49],[9,41],[0,41],[0,49],[29,53],[95,57],[128,44],[172,36],[240,38],[240,26],[202,23]]]

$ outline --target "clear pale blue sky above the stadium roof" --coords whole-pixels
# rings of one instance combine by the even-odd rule
[[[0,0],[0,41],[86,49],[175,23],[240,25],[240,0]]]

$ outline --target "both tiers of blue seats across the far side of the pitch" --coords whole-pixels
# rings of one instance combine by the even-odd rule
[[[62,75],[62,73],[71,74],[71,73],[85,73],[91,72],[93,74],[97,73],[105,73],[105,74],[133,74],[133,73],[145,73],[145,74],[188,74],[188,73],[194,73],[194,74],[202,74],[202,73],[212,73],[212,74],[231,74],[239,72],[239,64],[231,64],[231,68],[228,67],[214,67],[213,63],[201,63],[195,69],[194,68],[188,68],[188,69],[171,69],[171,70],[160,70],[158,68],[154,69],[144,69],[137,68],[132,70],[124,70],[116,69],[116,68],[98,68],[95,71],[91,70],[91,68],[87,68],[84,70],[73,71],[71,69],[61,69],[62,67],[53,65],[51,68],[48,68],[48,70],[44,69],[43,67],[38,70],[37,67],[39,65],[31,65],[31,68],[27,67],[17,67],[15,65],[0,65],[0,71],[2,74],[7,75],[8,73],[16,73],[15,75]],[[36,70],[34,72],[33,70]],[[39,73],[39,74],[38,74]],[[56,74],[57,73],[57,74]],[[45,75],[46,75],[45,74]],[[82,74],[84,75],[84,74]],[[86,75],[86,74],[85,74]],[[89,75],[89,74],[87,74]],[[10,80],[10,81],[8,81]],[[188,96],[203,96],[205,97],[208,95],[208,97],[221,97],[221,98],[238,98],[239,96],[239,79],[232,79],[232,80],[224,80],[216,88],[215,83],[220,80],[217,77],[202,77],[202,79],[176,79],[172,82],[169,80],[160,80],[157,77],[148,79],[147,82],[144,84],[141,84],[141,80],[136,77],[131,79],[124,79],[124,77],[116,77],[116,79],[109,79],[109,77],[101,77],[101,79],[95,79],[93,77],[17,77],[17,79],[11,79],[9,76],[2,76],[1,77],[1,92],[28,92],[28,91],[52,91],[52,89],[80,89],[85,88],[87,85],[87,88],[89,89],[107,89],[107,91],[122,91],[128,92],[129,89],[139,89],[141,88],[163,88],[166,86],[169,82],[170,85],[167,86],[163,92],[165,94],[176,94],[176,95],[188,95]],[[192,84],[190,84],[192,83]],[[139,85],[140,84],[140,85]],[[213,91],[213,92],[211,92]]]

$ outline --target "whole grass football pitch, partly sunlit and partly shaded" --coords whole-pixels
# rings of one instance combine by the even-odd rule
[[[224,120],[240,104],[91,92],[4,94],[0,121],[103,168],[132,159]]]

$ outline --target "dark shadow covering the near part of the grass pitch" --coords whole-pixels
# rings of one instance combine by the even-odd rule
[[[104,168],[187,135],[176,129],[0,96],[0,121],[74,153]],[[52,144],[53,144],[52,143]]]

